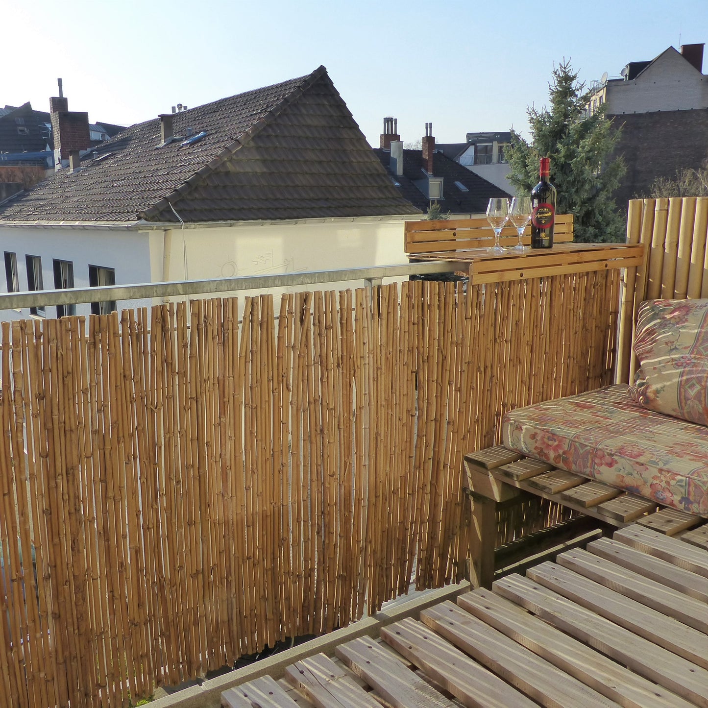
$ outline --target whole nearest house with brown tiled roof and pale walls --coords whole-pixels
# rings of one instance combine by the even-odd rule
[[[0,291],[399,264],[403,222],[420,217],[319,67],[72,151],[65,169],[0,204]],[[149,302],[118,307],[137,304]]]

